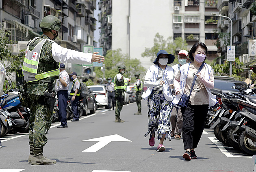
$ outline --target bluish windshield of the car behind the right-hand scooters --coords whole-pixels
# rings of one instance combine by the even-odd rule
[[[215,80],[214,81],[214,87],[219,88],[222,90],[236,90],[235,86],[241,86],[243,89],[247,88],[246,83],[235,83],[235,82],[229,82],[229,81],[223,81],[223,80]]]

